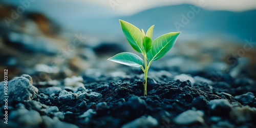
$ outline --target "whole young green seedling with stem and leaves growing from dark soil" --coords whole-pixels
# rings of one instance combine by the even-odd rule
[[[144,60],[138,55],[130,52],[118,53],[115,56],[109,58],[108,60],[118,62],[126,66],[141,67],[145,77],[144,96],[146,96],[148,68],[150,68],[152,61],[158,60],[163,57],[170,50],[170,48],[174,46],[178,36],[180,35],[180,32],[166,33],[152,41],[154,25],[151,26],[145,34],[143,29],[141,29],[140,31],[137,27],[128,22],[120,19],[119,22],[121,24],[122,31],[126,39],[134,50],[142,53]]]

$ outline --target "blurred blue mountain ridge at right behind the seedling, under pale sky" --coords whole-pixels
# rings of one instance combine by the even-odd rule
[[[149,9],[121,19],[143,29],[155,25],[154,34],[157,36],[167,32],[181,31],[181,38],[185,38],[182,35],[189,36],[195,33],[205,35],[208,33],[208,35],[224,34],[229,37],[245,39],[256,36],[255,15],[256,10],[210,11],[184,4]],[[188,22],[186,22],[186,18]]]

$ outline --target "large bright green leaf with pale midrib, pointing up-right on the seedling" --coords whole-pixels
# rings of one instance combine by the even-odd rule
[[[152,49],[147,54],[149,61],[155,61],[163,57],[172,48],[180,35],[180,32],[170,32],[157,37],[152,42]]]

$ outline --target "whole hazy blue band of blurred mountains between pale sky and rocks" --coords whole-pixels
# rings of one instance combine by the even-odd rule
[[[9,2],[16,6],[20,3]],[[64,30],[80,31],[96,37],[123,38],[118,19],[140,29],[155,25],[153,38],[164,33],[181,31],[180,39],[224,38],[244,40],[256,33],[256,10],[243,12],[212,11],[183,4],[148,9],[131,16],[122,16],[111,8],[92,3],[37,1],[26,11],[40,12]]]

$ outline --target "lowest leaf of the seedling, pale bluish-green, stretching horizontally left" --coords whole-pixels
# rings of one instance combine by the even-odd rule
[[[132,67],[141,67],[143,65],[143,59],[141,59],[138,55],[130,52],[118,53],[113,57],[110,57],[108,60]]]

